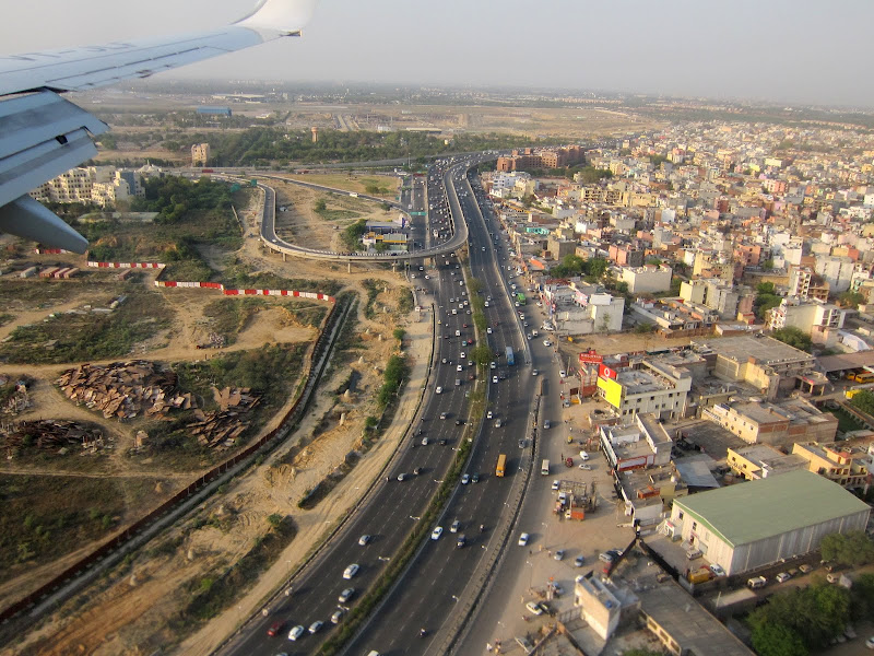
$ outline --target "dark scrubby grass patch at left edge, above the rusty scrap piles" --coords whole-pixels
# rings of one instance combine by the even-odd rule
[[[111,297],[95,303],[108,307]],[[59,314],[46,321],[21,326],[0,345],[0,361],[59,364],[121,358],[134,344],[167,328],[173,311],[154,291],[131,293],[110,313]]]

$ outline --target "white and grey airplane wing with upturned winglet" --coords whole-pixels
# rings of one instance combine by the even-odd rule
[[[299,36],[316,0],[260,0],[233,25],[202,33],[0,57],[0,231],[84,253],[87,242],[28,191],[97,154],[109,128],[61,98],[119,80]]]

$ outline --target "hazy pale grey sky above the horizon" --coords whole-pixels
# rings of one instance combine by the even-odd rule
[[[11,0],[8,0],[8,2]],[[0,48],[189,32],[253,0],[27,0]],[[163,77],[567,87],[874,106],[872,0],[319,0],[302,39]]]

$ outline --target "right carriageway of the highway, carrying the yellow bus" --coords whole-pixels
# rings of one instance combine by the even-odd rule
[[[454,175],[458,176],[458,172]],[[481,218],[473,190],[463,174],[453,183],[458,194],[450,194],[452,214],[463,213],[469,223],[471,270],[482,283],[482,294],[488,302],[484,312],[489,333],[483,337],[495,353],[495,368],[487,372],[491,418],[482,426],[468,468],[468,473],[477,475],[480,481],[459,487],[444,514],[444,535],[423,547],[408,575],[346,649],[347,654],[367,654],[369,649],[380,655],[437,653],[451,630],[445,623],[454,605],[471,584],[488,550],[499,547],[497,539],[493,540],[493,531],[501,513],[507,512],[505,504],[515,477],[520,475],[523,449],[531,448],[532,388],[538,378],[525,362],[525,339],[520,324],[515,320],[516,308],[501,276],[499,262],[504,260],[499,259],[499,254],[503,251],[494,250],[489,236],[489,227],[493,234],[498,229],[493,218],[486,219],[487,223]],[[438,265],[447,266],[439,258]],[[444,323],[451,320],[449,307],[439,308],[439,313]],[[507,363],[506,347],[516,352],[513,365]],[[449,359],[450,365],[460,359],[461,353],[456,351]],[[495,475],[500,454],[507,456],[503,478]],[[450,527],[456,520],[460,526],[452,535]],[[463,548],[457,546],[459,535],[465,537]],[[424,637],[422,629],[425,629]]]

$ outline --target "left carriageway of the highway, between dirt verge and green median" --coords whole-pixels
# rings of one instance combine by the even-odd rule
[[[461,169],[464,168],[466,166],[461,165]],[[344,609],[355,604],[401,546],[427,507],[454,456],[453,449],[466,422],[465,393],[472,388],[469,376],[473,367],[466,364],[466,360],[459,363],[460,353],[471,348],[462,342],[473,340],[472,315],[468,314],[469,303],[465,305],[468,291],[463,283],[459,284],[462,271],[458,259],[451,255],[441,257],[436,268],[425,268],[424,263],[422,271],[417,270],[418,266],[412,268],[417,276],[416,282],[438,308],[441,321],[437,326],[439,339],[429,380],[430,389],[436,391],[439,388],[440,394],[425,397],[421,421],[411,427],[387,478],[377,483],[371,497],[331,546],[292,582],[290,596],[279,596],[270,605],[268,616],[250,621],[223,653],[314,653],[333,629],[331,618],[334,613],[340,611],[336,619],[342,622]],[[451,305],[456,306],[456,314],[448,309]],[[459,365],[462,367],[460,372]],[[403,480],[399,480],[401,475]],[[364,535],[370,538],[362,544],[359,538]],[[344,578],[344,570],[351,564],[357,564],[358,572],[352,578]],[[341,594],[347,588],[354,588],[355,593],[341,601]],[[288,640],[288,632],[294,626],[308,629],[315,622],[323,623],[316,635],[305,632],[296,641]],[[268,635],[276,624],[279,629],[274,633],[277,635]]]

